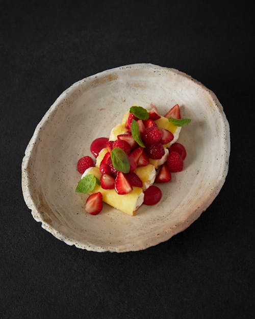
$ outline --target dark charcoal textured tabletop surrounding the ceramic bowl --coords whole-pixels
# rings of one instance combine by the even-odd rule
[[[254,317],[252,14],[245,2],[205,3],[1,1],[1,318]],[[23,201],[25,147],[73,82],[137,62],[180,69],[216,93],[231,127],[226,182],[156,247],[69,247]]]

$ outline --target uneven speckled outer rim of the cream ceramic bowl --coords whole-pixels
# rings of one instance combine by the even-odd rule
[[[225,165],[222,165],[222,171],[219,180],[217,181],[217,187],[215,187],[216,191],[213,194],[209,194],[208,197],[206,198],[206,205],[202,206],[205,207],[205,209],[199,210],[194,210],[191,211],[190,213],[187,214],[189,216],[188,219],[183,220],[179,225],[176,225],[175,227],[171,227],[169,232],[165,232],[162,236],[160,237],[147,237],[146,240],[141,240],[139,244],[134,248],[129,246],[128,244],[121,244],[118,247],[98,247],[97,245],[89,242],[88,244],[78,242],[73,238],[68,238],[65,237],[60,231],[55,229],[52,225],[49,225],[46,220],[43,219],[43,216],[40,214],[40,212],[37,209],[36,203],[34,203],[29,187],[29,170],[28,170],[28,164],[30,161],[30,155],[33,151],[33,148],[36,144],[36,140],[38,138],[38,135],[40,133],[41,128],[45,124],[47,118],[55,111],[57,106],[66,98],[66,95],[75,91],[75,89],[80,85],[80,83],[84,82],[85,80],[91,80],[91,79],[96,79],[101,76],[106,76],[108,73],[112,73],[114,71],[118,71],[121,69],[155,69],[155,70],[166,70],[168,72],[173,72],[176,73],[178,76],[184,77],[186,79],[189,79],[193,81],[196,85],[198,85],[202,90],[206,91],[208,95],[210,95],[213,106],[218,109],[219,115],[221,116],[222,124],[223,124],[223,130],[224,130],[224,157],[222,158],[222,162],[224,161]],[[148,247],[156,246],[160,242],[164,242],[168,239],[170,239],[173,235],[184,231],[186,228],[188,228],[200,215],[203,211],[205,211],[213,202],[213,200],[217,197],[220,189],[222,188],[227,173],[228,173],[228,161],[230,157],[230,149],[231,149],[231,142],[230,142],[230,126],[228,124],[226,115],[223,111],[223,107],[219,100],[217,99],[217,96],[215,93],[207,88],[205,85],[203,85],[201,82],[198,80],[195,80],[191,76],[187,75],[186,73],[179,71],[175,68],[169,68],[169,67],[163,67],[151,63],[135,63],[135,64],[127,64],[119,67],[115,67],[112,69],[107,69],[105,71],[101,71],[96,73],[95,75],[86,77],[82,80],[79,80],[75,83],[73,83],[70,87],[68,87],[66,90],[64,90],[56,99],[56,101],[52,104],[52,106],[49,107],[45,115],[42,117],[38,125],[36,126],[36,129],[33,133],[32,138],[30,139],[27,148],[25,149],[25,154],[22,159],[21,163],[21,187],[22,187],[22,193],[23,193],[23,198],[25,203],[27,204],[28,208],[31,209],[32,216],[37,222],[41,223],[41,227],[48,231],[49,233],[53,234],[56,238],[64,241],[68,245],[74,245],[77,248],[81,249],[86,249],[87,251],[95,251],[95,252],[130,252],[130,251],[139,251],[139,250],[144,250]]]

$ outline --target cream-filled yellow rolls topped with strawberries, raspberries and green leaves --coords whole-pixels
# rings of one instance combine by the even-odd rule
[[[150,109],[132,106],[109,138],[92,141],[95,162],[85,156],[77,163],[82,177],[76,191],[89,194],[86,212],[98,214],[105,202],[132,216],[142,204],[159,203],[162,192],[153,184],[168,183],[171,173],[183,170],[186,150],[176,141],[190,121],[178,104],[164,116],[152,103]]]

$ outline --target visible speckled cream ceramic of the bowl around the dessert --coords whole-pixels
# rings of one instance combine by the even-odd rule
[[[92,140],[109,136],[130,106],[150,102],[161,114],[178,103],[192,119],[179,137],[187,149],[184,170],[158,184],[158,205],[142,205],[135,216],[107,204],[98,215],[87,214],[88,195],[75,193],[78,159],[90,155]],[[23,196],[42,228],[67,244],[137,251],[183,231],[207,209],[225,181],[229,155],[230,129],[212,91],[176,69],[126,65],[74,83],[50,107],[25,150]]]

